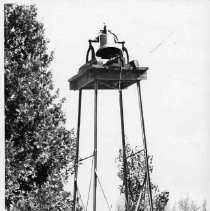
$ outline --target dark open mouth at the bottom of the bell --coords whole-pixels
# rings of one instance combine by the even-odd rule
[[[102,47],[96,52],[96,56],[102,59],[111,59],[116,56],[121,56],[122,50],[116,47]]]

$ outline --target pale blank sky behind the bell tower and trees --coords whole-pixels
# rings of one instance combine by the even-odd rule
[[[130,59],[149,67],[141,88],[148,153],[154,156],[152,181],[170,192],[171,207],[188,194],[198,203],[206,199],[210,208],[210,1],[33,2],[55,51],[50,68],[60,96],[67,98],[67,127],[76,129],[78,101],[78,91],[69,90],[68,79],[85,63],[88,39],[106,23],[126,42]],[[127,141],[141,148],[137,97],[135,85],[123,92]],[[121,147],[118,92],[99,91],[98,99],[98,172],[115,210],[120,181],[114,160]],[[93,152],[93,100],[93,91],[83,92],[80,157]],[[90,165],[91,160],[86,161],[79,169],[84,202]],[[73,191],[71,185],[67,189]],[[91,208],[92,198],[89,203]],[[108,210],[99,186],[97,206]]]

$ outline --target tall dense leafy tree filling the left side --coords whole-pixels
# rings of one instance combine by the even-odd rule
[[[7,210],[69,210],[75,136],[48,70],[44,26],[34,5],[5,4],[5,197]]]

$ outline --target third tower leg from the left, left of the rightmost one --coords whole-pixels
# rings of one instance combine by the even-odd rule
[[[125,199],[126,199],[126,211],[129,209],[128,204],[128,184],[127,184],[127,160],[126,160],[126,149],[125,149],[125,130],[124,130],[124,115],[123,115],[123,100],[122,90],[119,90],[119,102],[120,102],[120,117],[121,117],[121,131],[122,131],[122,148],[123,148],[123,183],[125,186]]]

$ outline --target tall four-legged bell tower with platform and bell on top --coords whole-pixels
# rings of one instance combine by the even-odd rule
[[[98,42],[100,48],[96,51],[93,43]],[[91,54],[91,59],[89,58]],[[96,210],[97,204],[97,115],[98,115],[98,91],[110,90],[119,92],[119,107],[121,118],[121,134],[122,134],[122,149],[123,149],[123,185],[125,188],[125,207],[126,211],[129,209],[129,194],[127,183],[127,157],[125,150],[125,132],[124,132],[124,113],[123,113],[123,89],[136,84],[137,94],[140,110],[140,123],[143,134],[143,146],[146,167],[146,182],[145,186],[148,189],[150,210],[153,211],[152,190],[150,183],[147,143],[143,117],[143,107],[141,98],[141,80],[147,77],[148,67],[140,67],[137,60],[129,60],[128,50],[125,48],[124,41],[118,41],[117,36],[104,26],[100,30],[99,35],[94,40],[89,40],[89,48],[86,54],[86,63],[79,68],[78,74],[69,79],[70,90],[79,91],[78,103],[78,123],[77,123],[77,143],[76,143],[76,157],[75,157],[75,175],[74,175],[74,192],[73,192],[73,209],[76,211],[76,198],[78,193],[77,177],[78,177],[78,159],[79,159],[79,140],[80,140],[80,122],[81,122],[81,106],[82,106],[82,91],[94,91],[94,165],[93,165],[93,211]],[[142,190],[139,190],[139,200],[136,204],[138,210],[139,201],[141,199]]]

